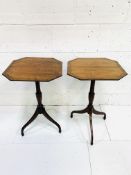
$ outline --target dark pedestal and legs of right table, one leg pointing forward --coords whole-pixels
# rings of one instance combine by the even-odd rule
[[[88,106],[83,109],[83,110],[78,110],[78,111],[72,111],[71,112],[71,118],[73,118],[74,113],[78,114],[83,114],[83,113],[88,113],[89,114],[89,121],[90,121],[90,131],[91,131],[91,145],[93,145],[93,124],[92,124],[92,114],[97,114],[97,115],[104,115],[103,119],[106,119],[106,114],[104,112],[99,112],[95,110],[93,106],[93,101],[94,101],[94,88],[95,88],[95,80],[91,80],[91,85],[90,85],[90,91],[89,91],[89,104]]]

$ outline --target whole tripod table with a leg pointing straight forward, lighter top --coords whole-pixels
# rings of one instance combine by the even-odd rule
[[[91,80],[88,106],[83,110],[72,111],[71,118],[74,113],[89,114],[91,145],[93,145],[92,114],[104,115],[103,119],[106,119],[106,114],[95,110],[93,106],[95,80],[119,80],[126,76],[127,73],[114,60],[107,58],[77,58],[68,62],[67,74],[79,80]]]

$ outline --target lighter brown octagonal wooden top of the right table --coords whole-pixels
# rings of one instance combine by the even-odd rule
[[[115,60],[76,58],[68,62],[67,74],[80,80],[120,80],[126,71]]]

